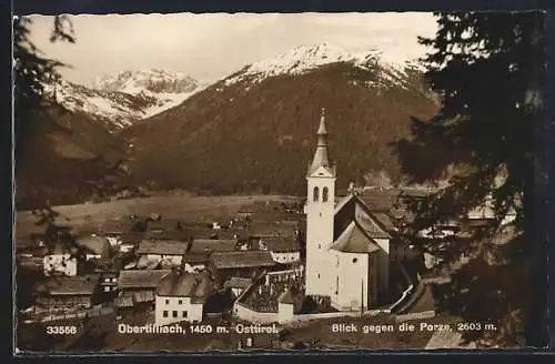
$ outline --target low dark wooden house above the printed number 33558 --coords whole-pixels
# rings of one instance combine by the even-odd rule
[[[99,275],[50,277],[36,287],[37,309],[47,311],[89,309],[95,302]]]

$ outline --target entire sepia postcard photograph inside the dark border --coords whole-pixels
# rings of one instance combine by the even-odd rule
[[[16,353],[541,346],[544,18],[14,17]]]

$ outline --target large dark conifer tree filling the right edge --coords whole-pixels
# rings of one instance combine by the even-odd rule
[[[496,218],[474,229],[470,239],[452,239],[441,250],[420,241],[447,263],[461,253],[474,257],[438,296],[445,309],[465,320],[496,320],[500,330],[488,333],[494,343],[522,344],[518,336],[527,322],[526,343],[544,345],[544,328],[532,324],[541,321],[534,315],[545,313],[531,306],[546,291],[538,284],[542,266],[535,256],[534,229],[534,186],[543,171],[534,133],[542,115],[546,70],[544,13],[435,16],[435,38],[420,41],[432,48],[423,61],[442,107],[428,121],[414,120],[413,136],[397,148],[412,182],[447,178],[450,184],[411,204],[415,218],[407,234],[464,216],[491,199]],[[516,219],[502,223],[513,210]],[[507,272],[512,280],[502,279]],[[522,283],[524,274],[532,284]],[[525,312],[531,314],[527,320]]]

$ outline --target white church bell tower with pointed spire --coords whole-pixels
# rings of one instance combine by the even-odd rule
[[[329,247],[333,243],[335,208],[335,165],[327,153],[325,109],[322,109],[316,132],[316,152],[306,173],[306,295],[331,295]]]

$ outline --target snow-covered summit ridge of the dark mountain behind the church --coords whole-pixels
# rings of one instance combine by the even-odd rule
[[[375,49],[350,52],[329,42],[321,42],[311,46],[299,46],[276,57],[249,64],[226,78],[224,82],[225,85],[243,80],[258,83],[269,77],[303,74],[319,67],[337,62],[350,63],[367,71],[379,68],[380,78],[369,81],[366,84],[369,87],[380,87],[383,85],[383,82],[396,82],[403,87],[406,83],[406,72],[418,68],[412,61],[387,58]]]

